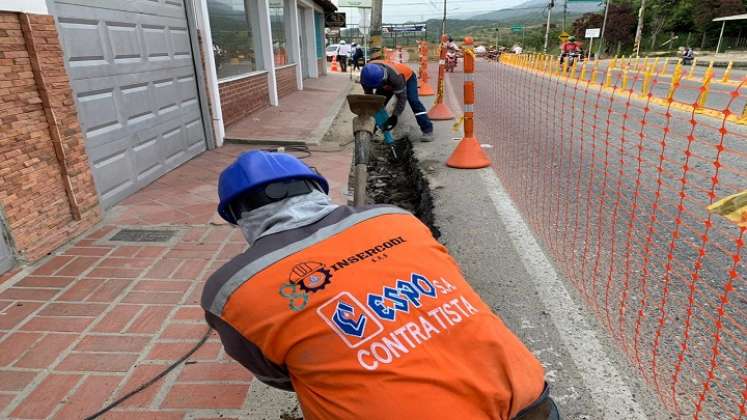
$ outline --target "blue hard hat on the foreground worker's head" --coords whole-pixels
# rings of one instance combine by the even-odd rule
[[[228,210],[233,200],[273,182],[297,179],[315,181],[329,193],[327,180],[295,156],[259,150],[242,153],[218,179],[218,214],[228,223],[236,224],[236,218]]]

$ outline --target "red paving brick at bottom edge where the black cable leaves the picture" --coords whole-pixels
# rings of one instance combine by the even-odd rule
[[[54,418],[82,419],[93,414],[101,409],[122,379],[122,376],[86,377],[75,393],[67,398],[63,408],[55,414]]]

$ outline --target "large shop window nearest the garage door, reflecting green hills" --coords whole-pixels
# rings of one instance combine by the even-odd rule
[[[255,3],[255,2],[246,2]],[[244,0],[207,0],[218,79],[260,70],[259,31]]]

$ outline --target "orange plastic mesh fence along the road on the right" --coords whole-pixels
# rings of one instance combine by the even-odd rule
[[[478,61],[476,129],[536,237],[662,403],[737,419],[747,196],[719,203],[731,219],[708,207],[747,190],[747,78],[664,64]]]

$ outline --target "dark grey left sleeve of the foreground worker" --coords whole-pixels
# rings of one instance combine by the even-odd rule
[[[205,320],[218,332],[226,353],[249,369],[257,379],[273,388],[293,391],[293,384],[285,366],[276,365],[268,360],[259,347],[212,313],[206,311]]]

